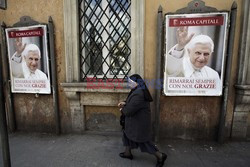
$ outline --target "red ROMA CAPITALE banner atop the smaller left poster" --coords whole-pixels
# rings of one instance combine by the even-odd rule
[[[25,30],[25,31],[10,31],[8,32],[9,38],[19,37],[36,37],[43,36],[43,29]]]

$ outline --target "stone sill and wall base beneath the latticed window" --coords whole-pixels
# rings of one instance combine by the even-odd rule
[[[62,86],[69,100],[72,132],[121,130],[117,104],[126,100],[128,88],[91,89],[85,83],[63,83]]]

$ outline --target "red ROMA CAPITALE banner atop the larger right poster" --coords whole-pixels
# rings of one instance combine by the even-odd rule
[[[170,27],[181,26],[221,26],[224,24],[223,16],[195,17],[195,18],[172,18],[169,19]]]

